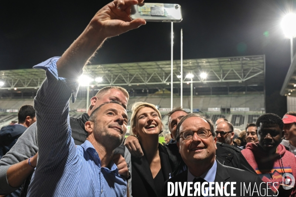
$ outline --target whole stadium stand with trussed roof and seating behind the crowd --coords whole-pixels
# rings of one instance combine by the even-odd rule
[[[206,115],[215,121],[218,117],[230,120],[236,128],[244,130],[249,122],[265,113],[265,57],[264,55],[221,57],[183,60],[183,77],[180,79],[180,60],[173,61],[173,106],[180,106],[181,82],[183,83],[183,108],[190,111],[190,79],[193,74],[193,112]],[[207,73],[201,79],[201,72]],[[0,126],[17,119],[16,112],[22,105],[34,105],[34,96],[44,71],[19,69],[0,71]],[[102,87],[119,85],[127,89],[130,105],[145,101],[159,107],[161,114],[169,112],[170,104],[170,61],[133,62],[105,65],[89,65],[84,75],[93,80],[89,84],[89,98]],[[81,86],[77,100],[70,102],[70,116],[79,117],[86,111],[87,87]],[[10,113],[9,113],[10,112]],[[14,112],[14,113],[11,113]],[[163,117],[165,130],[168,118]]]

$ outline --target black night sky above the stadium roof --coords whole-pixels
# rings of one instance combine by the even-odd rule
[[[0,70],[32,68],[63,51],[107,0],[5,1],[0,5]],[[146,0],[145,2],[156,2]],[[174,23],[174,59],[262,55],[266,59],[266,111],[282,116],[279,95],[290,66],[290,40],[280,26],[293,0],[161,0],[181,5]],[[295,40],[294,40],[295,41]],[[295,43],[296,45],[296,43]],[[170,23],[148,22],[108,39],[92,64],[170,60]],[[275,105],[276,104],[276,105]]]

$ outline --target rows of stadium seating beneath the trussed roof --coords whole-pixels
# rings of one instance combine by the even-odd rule
[[[136,101],[145,101],[158,105],[163,123],[165,125],[165,131],[168,130],[168,117],[165,115],[168,111],[162,111],[163,109],[170,109],[170,98],[162,96],[146,96],[146,97],[130,97],[127,108],[130,109],[130,105]],[[209,95],[209,96],[194,96],[193,97],[193,109],[198,109],[200,113],[207,115],[213,122],[217,118],[223,117],[231,121],[231,123],[239,129],[244,130],[247,123],[255,122],[256,119],[262,114],[262,108],[264,108],[264,96],[263,95]],[[12,120],[17,120],[17,113],[6,113],[8,109],[19,109],[23,105],[33,105],[33,99],[4,99],[0,100],[0,126],[7,125]],[[175,96],[173,98],[174,106],[180,105],[180,97]],[[247,112],[230,111],[229,113],[211,112],[209,108],[249,108]],[[183,108],[189,110],[190,108],[190,96],[183,97]],[[79,117],[83,112],[77,112],[78,109],[85,109],[86,111],[86,99],[77,99],[75,103],[70,102],[70,116]],[[128,113],[130,116],[130,113]]]

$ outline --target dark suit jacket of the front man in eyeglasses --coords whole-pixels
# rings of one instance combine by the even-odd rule
[[[173,178],[169,179],[168,181],[166,181],[166,183],[164,185],[164,189],[163,189],[163,196],[164,197],[168,196],[168,182],[172,182],[172,183],[187,182],[187,173],[188,173],[188,171],[186,170],[186,171],[174,176]],[[262,190],[262,189],[264,188],[265,193],[266,193],[266,187],[267,187],[266,184],[263,183],[261,185],[261,195],[260,195],[260,193],[259,193],[259,195],[257,193],[252,194],[255,183],[256,183],[256,186],[259,191],[260,184],[262,183],[261,179],[251,172],[222,165],[219,161],[217,161],[217,171],[216,171],[216,176],[215,176],[214,182],[218,182],[218,183],[223,182],[223,186],[224,186],[225,182],[236,182],[236,185],[234,186],[236,188],[234,190],[234,194],[236,194],[237,197],[244,197],[244,196],[245,197],[261,197],[264,195],[264,190]],[[243,186],[243,183],[245,183],[247,188],[249,187],[249,183],[251,183],[251,194],[250,194],[250,191],[248,194],[245,191],[245,195],[243,195],[244,193],[242,193],[242,195],[241,195],[241,183],[242,183],[242,186]],[[270,193],[270,190],[268,190],[268,192],[269,192],[269,195],[272,196],[273,193]],[[193,194],[193,193],[194,193],[194,190],[191,190],[191,194]],[[230,186],[229,185],[227,186],[227,193],[230,194]],[[215,191],[213,192],[213,194],[215,194]],[[173,194],[173,196],[174,195],[175,194]],[[225,195],[225,194],[223,193],[223,195]],[[180,190],[178,190],[178,196],[181,196]],[[264,196],[267,196],[267,195],[265,194]],[[185,197],[187,197],[187,190],[185,191]],[[218,197],[224,197],[224,196],[218,195]]]

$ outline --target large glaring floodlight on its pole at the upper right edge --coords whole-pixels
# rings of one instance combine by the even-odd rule
[[[286,16],[284,16],[281,25],[284,30],[285,37],[289,38],[291,42],[291,63],[292,63],[293,56],[294,56],[293,38],[296,37],[296,14],[289,13]]]

